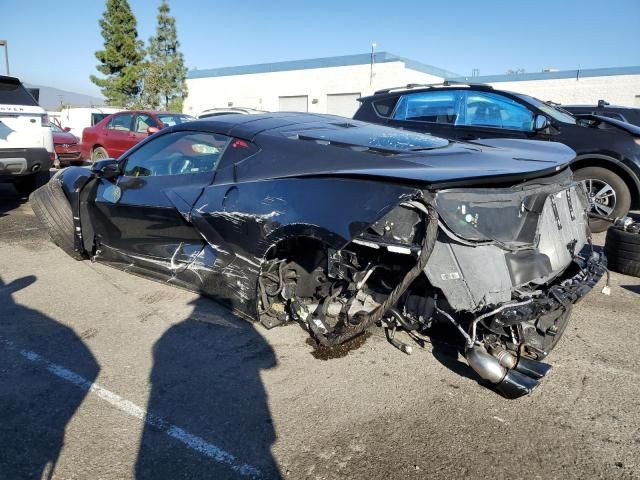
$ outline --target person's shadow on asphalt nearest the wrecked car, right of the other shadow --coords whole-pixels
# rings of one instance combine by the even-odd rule
[[[136,478],[280,478],[260,378],[277,364],[272,348],[256,326],[212,300],[198,298],[193,305],[189,318],[169,328],[153,348],[147,408],[167,423],[147,419]],[[170,434],[174,426],[198,440],[180,441]]]

